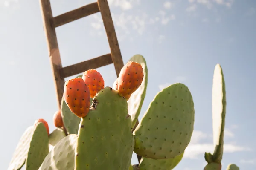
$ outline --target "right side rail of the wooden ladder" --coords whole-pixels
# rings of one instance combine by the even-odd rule
[[[116,75],[117,77],[119,77],[119,73],[122,67],[124,66],[124,63],[122,60],[121,51],[120,51],[118,40],[116,37],[116,32],[115,32],[113,20],[111,17],[111,12],[108,6],[108,1],[98,0],[98,6],[99,6],[99,11],[101,12],[101,15],[102,15],[103,24],[108,37],[108,43],[111,50],[112,61],[116,69]]]

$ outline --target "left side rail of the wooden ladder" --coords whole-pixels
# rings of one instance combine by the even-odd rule
[[[52,9],[49,0],[40,0],[41,14],[44,25],[44,32],[47,38],[47,46],[52,68],[52,75],[54,78],[55,93],[57,95],[57,104],[60,109],[61,98],[64,91],[64,78],[61,78],[59,70],[62,68],[61,57],[58,48],[55,28],[52,24]]]

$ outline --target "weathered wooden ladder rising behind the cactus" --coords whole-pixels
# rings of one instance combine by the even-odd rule
[[[115,66],[117,77],[119,76],[124,63],[107,0],[97,0],[95,3],[90,3],[56,17],[52,16],[50,0],[40,0],[40,5],[59,109],[64,91],[64,78],[82,73],[87,69],[96,69],[112,63]],[[101,13],[111,53],[62,67],[55,28],[97,12]]]

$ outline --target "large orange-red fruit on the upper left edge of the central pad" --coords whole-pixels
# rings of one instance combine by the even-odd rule
[[[83,118],[89,112],[90,91],[83,79],[73,78],[65,82],[64,100],[77,117]]]

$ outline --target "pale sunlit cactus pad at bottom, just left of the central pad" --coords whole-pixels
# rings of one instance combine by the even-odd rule
[[[76,134],[62,138],[45,157],[39,170],[74,170]]]

